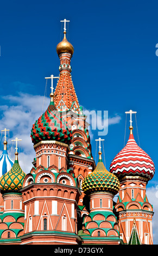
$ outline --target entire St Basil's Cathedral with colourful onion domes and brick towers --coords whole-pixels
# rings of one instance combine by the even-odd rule
[[[49,106],[30,127],[35,157],[28,174],[18,162],[19,139],[14,140],[12,161],[3,130],[0,245],[152,245],[154,212],[146,186],[154,176],[154,163],[137,145],[132,123],[128,142],[110,169],[104,166],[100,146],[95,163],[89,124],[72,82],[74,48],[66,39],[66,27],[56,52],[59,80],[53,92],[50,76]]]

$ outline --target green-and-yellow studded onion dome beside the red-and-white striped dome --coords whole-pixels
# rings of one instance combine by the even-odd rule
[[[116,175],[106,170],[101,155],[102,153],[99,151],[98,164],[96,169],[84,179],[82,184],[83,191],[87,194],[106,191],[115,195],[119,191],[119,180]]]

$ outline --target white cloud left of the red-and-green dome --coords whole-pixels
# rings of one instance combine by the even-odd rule
[[[18,160],[23,171],[29,173],[31,167],[33,167],[31,162],[33,162],[35,157],[30,131],[36,119],[46,111],[50,99],[45,97],[44,100],[43,96],[24,93],[19,93],[17,96],[7,95],[2,98],[9,102],[8,106],[5,104],[0,107],[2,113],[0,129],[9,129],[9,135],[11,135],[9,140],[10,147],[8,144],[8,152],[12,160],[14,160],[15,142],[11,142],[11,139],[15,139],[16,137],[22,139],[22,141],[18,143]],[[3,136],[4,134],[2,134],[2,141]]]

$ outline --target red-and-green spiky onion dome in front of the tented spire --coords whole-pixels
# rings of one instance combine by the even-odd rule
[[[67,127],[67,122],[62,120],[60,112],[54,106],[54,101],[50,101],[46,112],[35,121],[31,129],[32,142],[35,145],[40,141],[50,140],[68,144],[71,137],[71,130]]]

